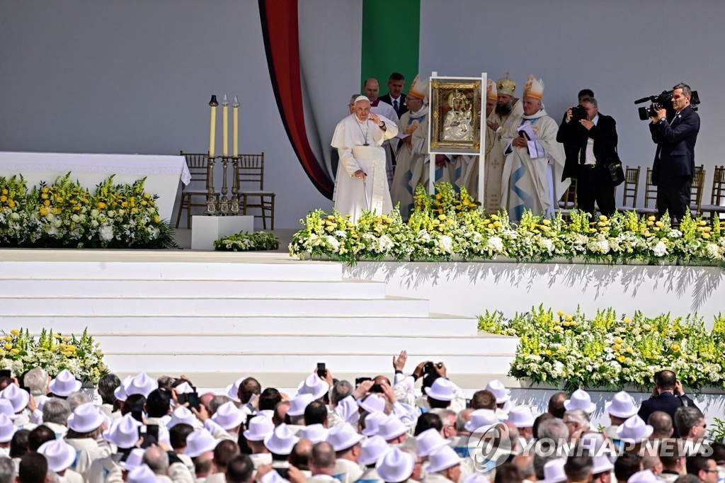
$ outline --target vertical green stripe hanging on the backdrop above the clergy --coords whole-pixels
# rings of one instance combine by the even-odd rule
[[[360,92],[365,79],[374,77],[380,83],[380,95],[386,94],[393,72],[405,75],[403,92],[407,92],[418,74],[420,40],[421,0],[363,0]]]

